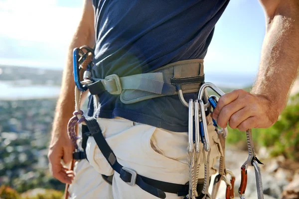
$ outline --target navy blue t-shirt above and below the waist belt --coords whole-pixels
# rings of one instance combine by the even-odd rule
[[[95,66],[104,79],[148,73],[163,65],[203,59],[216,22],[229,0],[93,0]],[[195,94],[184,95],[188,101]],[[188,130],[188,109],[178,96],[124,104],[108,92],[99,96],[95,116],[120,116],[176,132]],[[92,100],[89,112],[93,112]]]

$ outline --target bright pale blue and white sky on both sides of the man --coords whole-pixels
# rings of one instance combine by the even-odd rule
[[[0,64],[63,69],[83,0],[0,0]],[[258,0],[231,0],[218,21],[205,72],[256,74],[265,34]]]

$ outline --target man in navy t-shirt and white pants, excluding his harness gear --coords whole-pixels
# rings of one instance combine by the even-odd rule
[[[211,115],[220,127],[226,127],[228,123],[232,128],[245,131],[273,125],[286,105],[298,73],[299,2],[260,1],[266,14],[267,31],[258,78],[251,93],[236,90],[220,98]],[[85,0],[82,18],[69,48],[53,124],[48,157],[55,178],[71,183],[74,176],[60,163],[61,159],[64,163],[70,162],[73,151],[65,132],[74,107],[72,50],[96,44],[93,76],[100,79],[112,74],[126,77],[149,73],[171,63],[188,64],[186,60],[195,60],[201,67],[202,61],[198,59],[204,58],[214,26],[228,2]],[[186,72],[184,68],[183,72]],[[196,75],[203,75],[203,72]],[[185,100],[195,97],[196,92],[184,94]],[[94,115],[122,166],[154,180],[187,183],[187,134],[184,132],[187,132],[188,108],[182,105],[177,95],[127,104],[119,95],[104,92],[99,95],[99,101],[101,106],[94,110]],[[211,126],[210,116],[208,121],[210,170],[213,172],[212,166],[221,151],[217,150],[219,139]],[[85,182],[91,179],[90,185],[73,187],[74,192],[81,190],[77,198],[156,198],[137,185],[126,184],[105,160],[93,137],[88,139],[86,152],[92,165],[86,167],[93,170],[94,176],[84,176]],[[203,168],[200,172],[200,178],[203,178]],[[99,174],[109,176],[113,173],[111,190]],[[76,197],[76,193],[74,195]],[[173,193],[166,193],[166,197],[182,198]]]

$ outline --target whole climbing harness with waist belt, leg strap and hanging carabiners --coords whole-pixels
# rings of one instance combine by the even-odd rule
[[[211,106],[216,107],[218,98],[215,96],[208,96],[207,88],[215,91],[219,96],[224,93],[212,83],[204,83],[203,75],[203,60],[184,60],[175,63],[167,64],[146,74],[137,74],[127,77],[119,77],[116,74],[109,75],[104,79],[93,78],[91,73],[93,51],[88,47],[76,48],[73,51],[74,61],[74,79],[76,83],[75,88],[75,112],[70,119],[68,130],[69,136],[75,145],[74,154],[82,154],[82,150],[76,144],[78,139],[75,133],[75,125],[82,123],[85,133],[82,135],[82,148],[85,150],[88,136],[93,136],[100,151],[116,171],[120,178],[129,186],[139,186],[149,194],[164,199],[166,193],[177,194],[178,196],[185,196],[185,199],[215,199],[219,183],[221,180],[225,181],[227,185],[226,199],[234,197],[234,175],[225,168],[224,155],[220,158],[219,177],[214,182],[213,193],[208,193],[210,181],[210,167],[209,157],[211,153],[210,142],[207,130],[206,116],[210,113]],[[84,80],[80,80],[80,70],[84,69]],[[188,112],[188,168],[189,168],[189,182],[185,185],[174,184],[169,182],[162,182],[139,175],[131,168],[123,167],[117,160],[116,155],[106,142],[102,130],[95,117],[85,118],[83,111],[80,110],[81,92],[87,91],[94,97],[95,105],[98,105],[98,95],[103,92],[108,92],[112,95],[118,95],[123,103],[135,103],[142,100],[148,100],[161,96],[178,95],[180,101],[189,109]],[[184,100],[183,94],[198,92],[198,98],[190,99],[188,102]],[[215,130],[218,133],[222,150],[225,150],[225,137],[227,129],[219,129],[216,121],[213,121]],[[258,161],[254,155],[252,143],[248,142],[248,149],[253,151],[248,158]],[[84,151],[83,154],[85,155]],[[223,153],[224,154],[224,153]],[[86,155],[77,155],[79,157],[86,157]],[[200,159],[202,155],[204,166],[204,179],[199,179]],[[76,157],[77,157],[76,156]],[[75,155],[74,155],[75,158]],[[243,165],[244,171],[249,164],[248,161]],[[242,166],[242,168],[243,168]],[[257,166],[255,166],[256,168]],[[257,167],[258,168],[258,167]],[[243,171],[243,170],[242,170]],[[245,173],[244,173],[245,174]],[[260,174],[260,172],[259,172]],[[229,181],[227,176],[231,176]],[[247,176],[243,175],[244,183],[241,184],[241,193],[245,192]],[[242,182],[243,182],[242,181]],[[199,183],[200,182],[200,183]],[[201,183],[202,182],[202,183]],[[261,184],[260,184],[261,185]],[[202,188],[202,189],[199,189]],[[262,190],[262,189],[261,189]],[[201,191],[201,193],[198,193]],[[244,194],[244,193],[243,193]],[[240,195],[241,196],[241,195]],[[245,199],[245,198],[244,198]]]

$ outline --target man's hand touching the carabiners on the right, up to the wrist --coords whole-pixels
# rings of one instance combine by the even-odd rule
[[[235,90],[222,96],[212,113],[217,124],[225,128],[246,131],[249,128],[268,128],[278,119],[274,104],[263,96],[253,95],[244,90]]]

